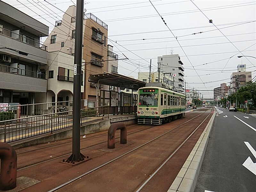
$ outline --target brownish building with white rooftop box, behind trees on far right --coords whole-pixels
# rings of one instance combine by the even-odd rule
[[[230,92],[231,93],[237,92],[239,87],[244,86],[244,84],[252,80],[252,72],[251,71],[246,72],[246,70],[244,69],[245,64],[244,64],[244,68],[242,67],[243,70],[239,66],[240,65],[237,66],[237,72],[233,72],[230,76]]]

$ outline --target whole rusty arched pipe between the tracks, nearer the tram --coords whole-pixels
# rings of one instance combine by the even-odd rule
[[[108,149],[115,148],[115,134],[116,130],[120,129],[120,143],[127,143],[127,129],[124,123],[114,123],[108,129]]]

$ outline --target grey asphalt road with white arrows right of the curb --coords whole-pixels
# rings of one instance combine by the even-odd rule
[[[195,192],[255,192],[256,116],[218,109]]]

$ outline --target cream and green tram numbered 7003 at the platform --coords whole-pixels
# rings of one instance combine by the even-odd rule
[[[185,116],[184,94],[161,87],[143,87],[138,94],[138,124],[162,124]]]

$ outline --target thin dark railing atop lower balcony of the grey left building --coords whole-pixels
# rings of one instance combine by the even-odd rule
[[[0,71],[5,73],[28,76],[28,77],[35,77],[39,79],[46,79],[46,75],[44,73],[29,71],[29,70],[20,69],[20,68],[14,68],[7,65],[0,65]]]

